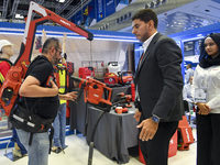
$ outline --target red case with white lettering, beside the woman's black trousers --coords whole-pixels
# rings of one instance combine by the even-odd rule
[[[189,145],[194,142],[191,128],[188,124],[186,116],[183,116],[183,120],[180,120],[178,124],[178,150],[187,151],[189,150]]]

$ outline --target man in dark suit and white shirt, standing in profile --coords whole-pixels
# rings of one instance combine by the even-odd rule
[[[157,16],[143,9],[132,16],[132,33],[144,53],[135,73],[140,146],[147,165],[167,165],[169,140],[184,113],[182,51],[157,32]]]

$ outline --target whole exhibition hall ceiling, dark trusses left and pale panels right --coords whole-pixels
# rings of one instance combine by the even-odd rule
[[[26,16],[30,1],[0,0],[0,19],[19,22],[15,14]],[[65,0],[63,3],[58,2],[59,0],[34,1],[68,20],[91,0]],[[156,12],[158,31],[165,35],[220,22],[220,0],[136,0],[89,29],[131,33],[131,16],[144,8],[152,8]],[[128,13],[131,13],[130,18],[123,19]]]

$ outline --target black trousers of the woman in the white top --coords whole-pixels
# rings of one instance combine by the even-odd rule
[[[196,114],[197,165],[220,165],[220,114]]]

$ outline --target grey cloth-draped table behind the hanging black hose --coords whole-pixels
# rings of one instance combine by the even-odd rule
[[[110,113],[105,113],[98,123],[94,145],[110,160],[116,160],[119,164],[129,162],[129,147],[138,145],[136,129],[138,122],[133,118],[135,108],[129,110],[129,113],[118,114],[113,110]],[[87,143],[90,143],[94,125],[100,116],[101,111],[88,107],[88,128]]]

